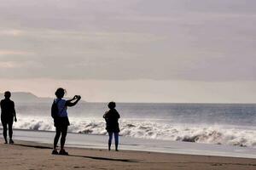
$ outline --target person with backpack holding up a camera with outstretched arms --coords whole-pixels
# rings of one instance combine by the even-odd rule
[[[58,88],[55,92],[57,99],[54,100],[54,103],[52,105],[52,116],[54,117],[55,131],[56,131],[55,139],[54,139],[54,148],[52,150],[52,154],[54,155],[57,155],[57,154],[68,155],[67,151],[64,150],[64,144],[67,136],[67,127],[70,125],[68,121],[68,116],[67,116],[67,107],[72,107],[76,105],[81,99],[81,96],[79,95],[75,95],[73,99],[69,99],[69,100],[62,99],[65,93],[66,93],[65,89]],[[56,113],[53,113],[53,112],[56,112]],[[61,150],[58,153],[56,147],[60,137],[61,137]]]

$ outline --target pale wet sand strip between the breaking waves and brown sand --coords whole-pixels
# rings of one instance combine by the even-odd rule
[[[15,130],[14,132],[14,140],[36,142],[39,144],[52,144],[54,136],[55,132],[51,131]],[[0,139],[1,138],[2,135],[0,136]],[[108,136],[68,133],[66,146],[104,150],[108,148]],[[228,156],[236,158],[256,159],[256,149],[250,147],[154,139],[136,139],[122,136],[119,137],[119,150],[134,150],[195,156]]]

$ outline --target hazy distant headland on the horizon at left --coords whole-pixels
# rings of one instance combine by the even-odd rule
[[[3,99],[4,95],[0,93],[0,99]],[[18,103],[51,103],[54,98],[41,98],[30,92],[12,92],[12,100]],[[68,98],[69,99],[69,98]],[[84,100],[81,100],[84,103]]]

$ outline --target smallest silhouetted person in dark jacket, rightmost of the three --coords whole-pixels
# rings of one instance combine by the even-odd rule
[[[111,143],[112,143],[112,139],[113,139],[113,135],[114,135],[114,143],[115,143],[115,150],[118,151],[118,146],[119,146],[119,112],[116,111],[115,109],[115,103],[109,102],[108,103],[108,108],[109,111],[107,111],[103,118],[106,121],[106,129],[108,131],[108,150],[111,150]]]

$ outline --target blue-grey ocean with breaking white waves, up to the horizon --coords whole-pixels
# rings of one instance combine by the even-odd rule
[[[51,103],[15,104],[16,129],[55,131]],[[120,135],[129,139],[183,141],[256,148],[256,105],[117,103]],[[102,115],[106,103],[68,108],[70,133],[107,135]],[[148,140],[149,141],[149,140]],[[156,142],[157,143],[157,142]]]

